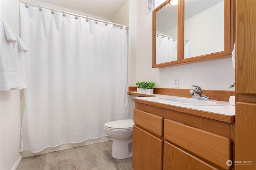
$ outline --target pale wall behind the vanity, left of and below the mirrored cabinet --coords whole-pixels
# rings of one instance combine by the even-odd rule
[[[129,79],[129,86],[138,80],[151,80],[156,87],[174,88],[173,78],[179,77],[179,88],[190,89],[198,85],[202,89],[230,90],[235,71],[232,59],[219,59],[167,68],[152,68],[152,12],[147,14],[147,1],[136,1],[136,75]],[[131,11],[131,9],[130,9]],[[129,71],[129,70],[128,70]],[[234,89],[232,89],[234,90]]]

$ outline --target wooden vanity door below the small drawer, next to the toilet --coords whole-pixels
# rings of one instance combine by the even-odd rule
[[[132,168],[134,170],[162,170],[163,140],[133,126]]]

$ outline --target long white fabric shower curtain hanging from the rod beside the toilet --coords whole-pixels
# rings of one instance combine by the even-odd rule
[[[28,47],[20,151],[107,136],[104,123],[128,119],[125,27],[22,3],[20,25]]]

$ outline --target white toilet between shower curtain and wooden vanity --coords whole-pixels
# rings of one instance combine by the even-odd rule
[[[132,157],[132,119],[110,121],[104,124],[104,130],[113,138],[112,157],[126,159]],[[130,146],[130,149],[129,149]]]

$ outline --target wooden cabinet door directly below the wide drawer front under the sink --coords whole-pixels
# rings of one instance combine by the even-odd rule
[[[164,141],[164,170],[219,170],[196,156]]]

